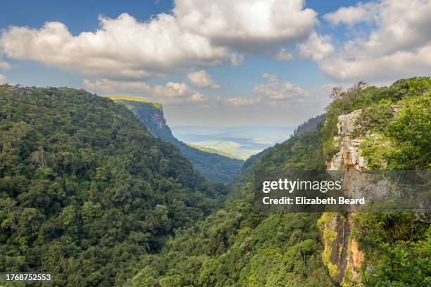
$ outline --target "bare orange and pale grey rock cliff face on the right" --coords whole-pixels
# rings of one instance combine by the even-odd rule
[[[338,117],[338,134],[334,137],[334,143],[339,151],[327,162],[327,170],[366,170],[368,162],[359,151],[363,140],[361,137],[352,136],[356,119],[361,113],[362,110],[354,110],[348,115]],[[344,184],[354,186],[355,179],[346,179],[348,181]],[[353,218],[354,213],[329,213],[320,219],[319,225],[325,245],[323,261],[332,278],[343,286],[360,286],[361,281],[364,253],[358,249],[358,243],[351,237]]]

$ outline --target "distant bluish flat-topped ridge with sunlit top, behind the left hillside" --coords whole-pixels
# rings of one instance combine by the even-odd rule
[[[175,138],[168,125],[166,125],[163,108],[160,103],[154,103],[142,98],[112,96],[111,99],[117,103],[123,103],[132,110],[152,135],[176,146],[180,153],[192,162],[194,168],[207,179],[213,182],[226,183],[232,180],[241,169],[243,160],[203,151],[201,148],[188,146]]]

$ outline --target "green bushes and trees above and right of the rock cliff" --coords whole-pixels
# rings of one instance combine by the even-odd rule
[[[370,170],[429,170],[431,167],[431,79],[400,79],[390,87],[358,84],[336,90],[324,126],[325,158],[337,151],[332,139],[338,115],[363,111],[354,134]],[[425,220],[422,219],[425,218]],[[366,286],[429,286],[431,229],[427,215],[406,212],[354,215],[352,236],[366,255]]]

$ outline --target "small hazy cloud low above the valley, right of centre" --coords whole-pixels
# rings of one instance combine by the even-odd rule
[[[275,101],[295,101],[301,103],[310,99],[308,91],[296,87],[291,82],[280,82],[275,75],[268,73],[263,74],[262,77],[266,79],[267,83],[254,87],[251,91],[255,94],[264,94],[268,99]]]

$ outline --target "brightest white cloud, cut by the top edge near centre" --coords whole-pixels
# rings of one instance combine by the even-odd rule
[[[243,53],[306,39],[317,23],[304,0],[177,0],[173,13],[184,29]]]

